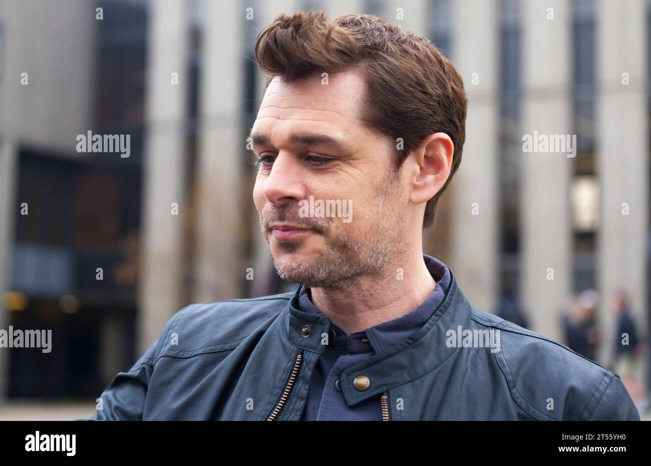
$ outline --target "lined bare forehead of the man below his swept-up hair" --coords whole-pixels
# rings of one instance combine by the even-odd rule
[[[365,130],[359,120],[364,89],[363,77],[356,72],[329,75],[327,84],[320,74],[289,83],[274,77],[253,128],[255,132],[274,133],[270,137],[301,130],[352,137]]]

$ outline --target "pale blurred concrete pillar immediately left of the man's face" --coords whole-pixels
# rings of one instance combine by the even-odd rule
[[[193,299],[240,297],[246,275],[242,228],[249,228],[243,192],[246,131],[242,127],[245,9],[206,2],[201,70],[201,130],[197,163],[197,237]]]

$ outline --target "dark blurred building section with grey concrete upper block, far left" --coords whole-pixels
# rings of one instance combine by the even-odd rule
[[[0,329],[53,340],[0,349],[8,396],[89,396],[133,363],[146,18],[142,2],[0,4]],[[130,157],[77,152],[87,131],[130,134]]]

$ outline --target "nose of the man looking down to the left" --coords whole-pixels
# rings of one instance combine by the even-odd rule
[[[279,152],[264,184],[264,197],[272,204],[298,202],[307,197],[301,169],[291,154]]]

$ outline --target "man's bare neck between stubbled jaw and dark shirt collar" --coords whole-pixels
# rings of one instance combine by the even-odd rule
[[[395,258],[377,274],[357,277],[342,290],[312,288],[312,303],[350,335],[408,314],[435,286],[419,250]]]

